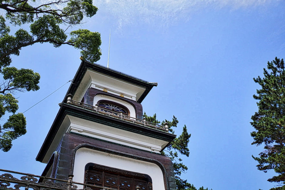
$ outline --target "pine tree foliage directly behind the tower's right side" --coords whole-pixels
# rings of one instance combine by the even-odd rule
[[[156,119],[156,114],[153,116],[148,116],[146,113],[143,115],[144,118],[146,118],[146,121],[155,123],[155,124],[164,124],[168,123],[169,126],[169,132],[174,134],[173,127],[177,127],[178,120],[173,115],[172,120],[163,120],[162,122],[159,122]],[[187,182],[187,180],[183,180],[180,178],[181,173],[185,173],[187,171],[187,166],[183,164],[182,159],[179,157],[180,155],[185,155],[189,157],[189,138],[191,137],[191,134],[187,132],[186,125],[184,125],[181,135],[176,137],[164,150],[161,152],[163,155],[168,156],[172,162],[173,162],[173,168],[175,172],[175,180],[176,180],[176,188],[178,190],[197,190],[194,185]],[[200,187],[198,190],[208,190],[208,188],[204,189],[203,186]],[[212,189],[211,189],[212,190]]]

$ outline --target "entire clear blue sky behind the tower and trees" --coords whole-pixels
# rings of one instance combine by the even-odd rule
[[[257,111],[253,77],[267,61],[284,58],[284,1],[269,0],[99,0],[99,10],[82,28],[98,31],[106,66],[111,30],[110,68],[158,82],[142,102],[160,120],[175,115],[177,134],[184,124],[192,134],[183,178],[196,187],[269,189],[273,172],[257,170],[262,146],[251,145],[250,117]],[[76,28],[75,28],[76,29]],[[41,74],[40,90],[16,95],[19,112],[73,78],[79,50],[37,44],[23,48],[12,66]],[[40,175],[35,161],[69,87],[25,112],[27,134],[0,152],[0,168]],[[5,121],[4,118],[3,122]]]

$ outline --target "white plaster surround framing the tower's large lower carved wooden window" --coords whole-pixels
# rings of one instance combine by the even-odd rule
[[[100,152],[89,148],[79,148],[76,151],[73,169],[74,182],[84,182],[85,165],[90,162],[94,164],[109,166],[112,168],[147,174],[153,181],[153,189],[165,190],[163,173],[158,165],[150,162]]]

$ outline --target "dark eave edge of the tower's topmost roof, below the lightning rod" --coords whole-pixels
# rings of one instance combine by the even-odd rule
[[[157,86],[157,83],[147,82],[147,81],[144,81],[142,79],[124,74],[122,72],[104,67],[102,65],[98,65],[96,63],[90,63],[87,61],[82,61],[77,72],[76,72],[76,74],[75,74],[75,76],[74,76],[74,78],[73,78],[73,80],[72,80],[72,84],[70,85],[66,95],[68,95],[68,94],[74,95],[75,94],[75,91],[78,88],[78,85],[80,84],[80,82],[81,82],[85,72],[87,71],[87,69],[90,69],[92,71],[96,71],[96,72],[99,72],[99,73],[102,73],[102,74],[105,74],[105,75],[108,75],[108,76],[111,76],[114,78],[118,78],[122,81],[129,82],[131,84],[138,85],[138,86],[141,86],[143,88],[146,88],[146,90],[143,92],[141,97],[136,101],[138,103],[141,103],[143,101],[143,99],[146,97],[146,95],[149,93],[149,91],[153,88],[153,86]],[[66,95],[65,95],[65,98],[66,98]]]

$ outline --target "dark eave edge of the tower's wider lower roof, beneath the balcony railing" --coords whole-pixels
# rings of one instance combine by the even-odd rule
[[[176,135],[171,133],[162,132],[153,128],[147,128],[144,126],[136,125],[134,123],[126,122],[117,118],[112,118],[99,113],[91,112],[87,109],[82,109],[74,105],[62,103],[59,112],[56,115],[56,118],[48,132],[48,135],[46,136],[45,141],[36,157],[37,161],[42,162],[46,152],[48,151],[66,115],[71,115],[77,118],[82,118],[92,122],[97,122],[103,125],[108,125],[110,127],[126,130],[129,132],[134,132],[137,134],[145,135],[148,137],[168,142],[171,142],[176,137]]]

